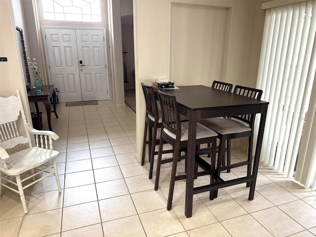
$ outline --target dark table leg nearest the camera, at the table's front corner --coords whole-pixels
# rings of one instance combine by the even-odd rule
[[[193,204],[193,183],[195,170],[195,149],[197,138],[197,114],[193,111],[188,111],[189,118],[189,134],[188,134],[188,151],[187,151],[187,183],[186,183],[186,203],[185,215],[192,216]]]

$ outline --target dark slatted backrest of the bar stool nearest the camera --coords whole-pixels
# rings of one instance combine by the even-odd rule
[[[176,139],[180,139],[181,120],[176,97],[158,90],[158,98],[161,108],[162,128],[176,134]]]

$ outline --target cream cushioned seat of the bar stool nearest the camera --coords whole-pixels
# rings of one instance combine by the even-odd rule
[[[176,134],[170,132],[168,129],[163,128],[163,131],[171,138],[176,139]],[[189,122],[181,122],[181,139],[180,141],[187,141],[189,136]],[[197,123],[197,139],[216,137],[217,133],[211,129]]]

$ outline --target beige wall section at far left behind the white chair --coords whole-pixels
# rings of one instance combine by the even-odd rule
[[[0,0],[0,29],[0,56],[8,59],[0,62],[0,96],[16,95],[19,89],[26,119],[32,122],[10,0]]]

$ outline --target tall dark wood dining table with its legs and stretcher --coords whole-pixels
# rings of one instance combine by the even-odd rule
[[[185,200],[186,217],[192,216],[193,195],[197,193],[251,182],[248,199],[252,200],[255,192],[262,138],[269,102],[248,98],[203,85],[179,86],[179,89],[168,89],[163,90],[163,92],[176,96],[180,113],[187,116],[189,119]],[[215,184],[194,188],[197,121],[202,118],[237,116],[244,114],[261,114],[251,176],[228,181],[217,181]],[[213,167],[213,169],[215,169],[215,167]],[[213,170],[212,173],[216,174],[217,171]]]

